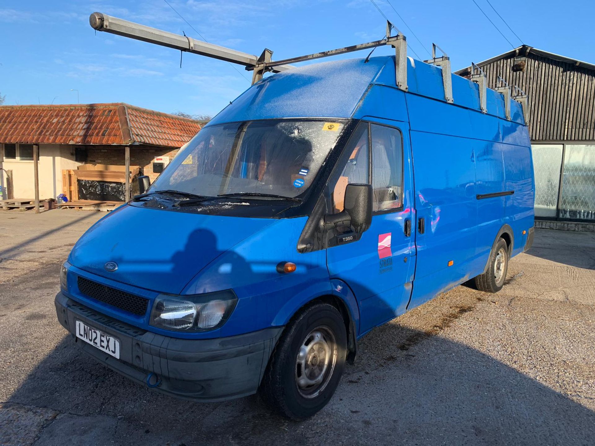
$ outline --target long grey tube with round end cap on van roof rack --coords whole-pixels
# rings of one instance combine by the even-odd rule
[[[149,26],[134,23],[111,15],[93,12],[89,17],[90,26],[97,31],[104,31],[118,36],[130,37],[131,39],[142,40],[143,42],[155,43],[156,45],[167,46],[168,48],[179,49],[193,54],[209,56],[222,61],[233,62],[252,69],[259,63],[259,58],[225,46],[196,40],[192,37],[180,36],[179,34],[162,31]],[[275,65],[275,73],[289,70],[288,65]]]

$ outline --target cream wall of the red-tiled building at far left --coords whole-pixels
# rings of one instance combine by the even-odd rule
[[[74,146],[57,144],[39,145],[39,199],[55,198],[62,193],[62,169],[76,169],[77,163],[71,154]],[[3,147],[2,147],[3,149]],[[33,161],[4,159],[0,153],[0,168],[12,171],[12,195],[15,199],[35,197]],[[0,171],[0,188],[5,193],[7,173]],[[3,199],[7,197],[3,194]]]

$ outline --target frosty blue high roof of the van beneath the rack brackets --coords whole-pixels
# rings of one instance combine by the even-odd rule
[[[408,58],[408,94],[444,100],[441,68]],[[480,112],[479,87],[452,74],[452,106]],[[208,125],[275,118],[349,118],[371,84],[396,87],[394,56],[343,59],[292,68],[254,84]],[[506,119],[504,96],[487,89],[487,114]],[[511,120],[524,124],[521,105],[511,100]]]

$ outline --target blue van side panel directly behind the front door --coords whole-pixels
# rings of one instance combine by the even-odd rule
[[[475,249],[475,140],[466,109],[407,95],[414,161],[417,266],[411,301],[415,307],[480,268]],[[452,266],[449,262],[452,260]],[[483,268],[483,265],[481,265]]]

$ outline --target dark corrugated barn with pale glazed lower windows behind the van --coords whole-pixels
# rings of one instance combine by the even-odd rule
[[[529,96],[536,218],[595,221],[595,65],[527,45],[477,65]]]

